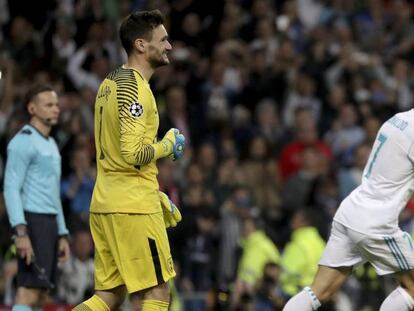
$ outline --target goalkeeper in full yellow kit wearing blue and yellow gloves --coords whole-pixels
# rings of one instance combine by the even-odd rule
[[[148,84],[172,49],[158,10],[130,14],[120,28],[128,62],[111,72],[95,103],[97,180],[90,226],[95,242],[95,295],[74,310],[117,310],[126,293],[142,310],[168,310],[175,276],[166,227],[181,215],[159,192],[157,159],[177,160],[185,139],[170,129],[160,141],[157,105]]]

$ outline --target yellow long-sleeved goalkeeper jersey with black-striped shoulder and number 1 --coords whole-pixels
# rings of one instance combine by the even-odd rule
[[[161,211],[155,157],[158,125],[148,81],[135,69],[111,72],[95,102],[97,179],[91,212]]]

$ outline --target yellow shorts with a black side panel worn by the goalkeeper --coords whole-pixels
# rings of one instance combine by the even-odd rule
[[[95,289],[126,285],[133,293],[175,276],[162,212],[90,214],[95,243]]]

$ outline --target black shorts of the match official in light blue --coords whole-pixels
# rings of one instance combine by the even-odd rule
[[[59,238],[57,217],[29,212],[25,212],[25,217],[37,269],[34,264],[26,265],[25,259],[19,257],[17,287],[51,288],[50,285],[56,283],[57,274]]]

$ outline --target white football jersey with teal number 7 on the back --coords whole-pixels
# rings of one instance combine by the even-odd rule
[[[414,190],[414,109],[380,128],[361,185],[341,203],[334,219],[366,234],[390,234]]]

